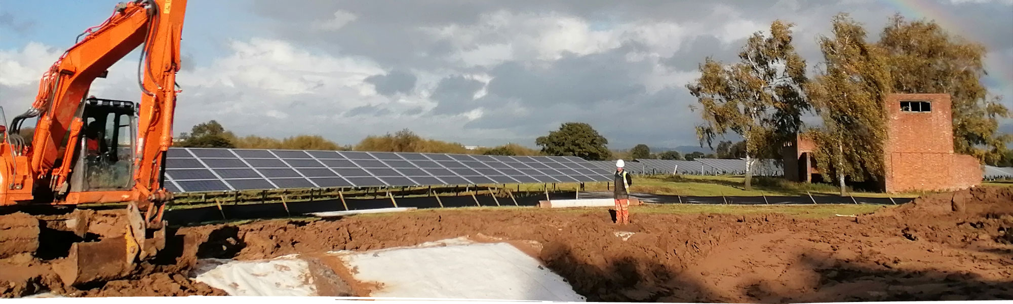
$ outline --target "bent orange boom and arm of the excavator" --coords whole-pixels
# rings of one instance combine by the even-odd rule
[[[19,119],[40,116],[29,148],[28,178],[67,174],[54,171],[60,149],[71,142],[75,115],[91,83],[131,51],[141,48],[139,84],[142,91],[135,155],[135,189],[131,201],[151,200],[158,193],[163,154],[172,143],[175,74],[179,70],[179,41],[185,0],[138,0],[116,5],[112,16],[89,28],[67,50],[40,81],[32,108]],[[13,131],[17,131],[15,124]],[[15,179],[16,178],[12,178]],[[90,203],[90,202],[85,202]],[[104,203],[104,202],[95,202]]]

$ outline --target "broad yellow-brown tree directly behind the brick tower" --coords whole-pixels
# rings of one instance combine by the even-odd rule
[[[1013,135],[999,133],[999,119],[1009,118],[1009,109],[982,83],[984,45],[952,36],[935,21],[907,21],[895,14],[878,47],[888,57],[894,92],[950,94],[954,152],[983,162],[1002,157]]]

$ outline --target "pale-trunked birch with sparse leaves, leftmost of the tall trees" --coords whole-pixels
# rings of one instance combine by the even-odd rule
[[[687,85],[703,107],[704,125],[697,128],[701,147],[706,141],[713,148],[713,140],[728,132],[745,139],[747,189],[752,188],[751,157],[793,138],[802,127],[802,112],[810,109],[803,93],[805,61],[791,45],[792,26],[776,20],[769,35],[754,33],[735,64],[724,66],[708,57],[700,78]]]

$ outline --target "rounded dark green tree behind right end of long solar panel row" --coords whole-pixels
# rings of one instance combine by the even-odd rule
[[[542,153],[553,156],[577,156],[587,160],[609,158],[609,141],[586,123],[565,123],[558,131],[535,140]]]

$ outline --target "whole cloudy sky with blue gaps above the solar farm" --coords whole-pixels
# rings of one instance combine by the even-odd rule
[[[8,119],[116,2],[0,0]],[[901,12],[984,43],[986,82],[1013,108],[1013,0],[191,0],[175,130],[217,120],[240,135],[355,144],[408,128],[465,145],[534,146],[561,123],[585,122],[612,148],[697,145],[685,85],[698,63],[734,59],[746,37],[780,18],[797,24],[811,70],[815,40],[841,11],[873,40]],[[93,94],[137,100],[134,55]]]

